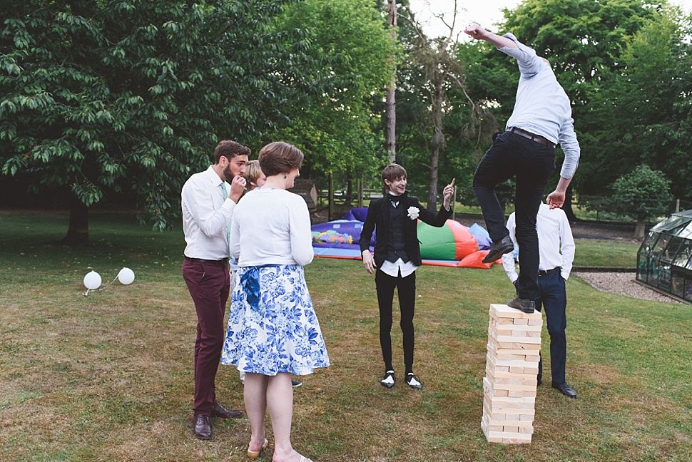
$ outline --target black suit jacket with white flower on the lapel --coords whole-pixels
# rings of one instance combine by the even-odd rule
[[[370,238],[372,237],[373,230],[375,230],[375,240],[377,241],[375,242],[375,265],[378,268],[382,267],[382,263],[387,258],[387,239],[390,235],[387,231],[390,229],[391,218],[387,207],[391,207],[391,205],[387,196],[388,193],[385,193],[385,197],[370,202],[370,207],[367,207],[365,223],[360,232],[360,253],[362,254],[363,250],[370,250]],[[444,210],[444,206],[442,206],[439,212],[435,214],[420,205],[417,197],[409,196],[408,193],[399,196],[398,207],[404,207],[403,220],[406,253],[414,265],[420,266],[422,262],[420,259],[420,242],[418,240],[418,220],[411,220],[408,217],[407,210],[409,207],[417,207],[419,220],[430,226],[442,227],[449,215],[452,215],[452,207],[449,207],[449,210]]]

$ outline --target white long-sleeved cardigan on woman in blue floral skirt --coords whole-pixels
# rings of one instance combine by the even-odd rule
[[[310,212],[286,190],[255,188],[233,212],[230,252],[239,267],[312,262]]]

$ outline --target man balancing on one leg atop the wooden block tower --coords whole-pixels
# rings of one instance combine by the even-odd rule
[[[565,159],[557,188],[548,195],[551,208],[562,207],[567,186],[574,177],[581,150],[574,133],[569,96],[557,81],[547,59],[517,40],[512,34],[498,36],[474,24],[465,32],[477,40],[496,46],[512,56],[519,66],[519,86],[512,116],[504,133],[497,134],[474,173],[473,188],[483,212],[492,246],[484,263],[496,261],[514,246],[504,227],[504,210],[495,187],[509,178],[517,180],[514,210],[517,212],[517,242],[521,252],[521,273],[517,297],[508,304],[526,313],[534,312],[539,294],[536,274],[539,242],[536,213],[548,180],[555,170],[555,148],[560,145]]]

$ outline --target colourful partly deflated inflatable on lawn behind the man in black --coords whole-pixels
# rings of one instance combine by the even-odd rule
[[[352,209],[343,220],[312,225],[315,257],[360,258],[360,232],[366,214],[366,208]],[[490,239],[477,224],[467,228],[457,221],[447,220],[443,227],[437,228],[419,221],[418,239],[423,265],[484,269],[491,265],[481,261],[488,253]],[[371,251],[374,246],[373,232]]]

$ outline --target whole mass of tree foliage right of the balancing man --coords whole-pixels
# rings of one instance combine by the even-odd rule
[[[572,185],[606,195],[647,163],[691,197],[689,19],[665,1],[526,0],[502,29],[546,56],[573,101],[582,156]],[[687,151],[687,152],[686,152]],[[626,162],[623,160],[626,159]]]

